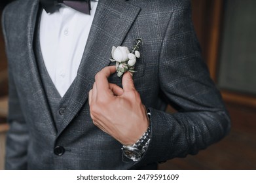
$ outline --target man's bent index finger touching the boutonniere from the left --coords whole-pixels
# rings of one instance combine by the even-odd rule
[[[95,76],[95,82],[97,86],[97,90],[99,91],[109,91],[109,81],[107,78],[116,72],[115,65],[114,66],[108,66],[101,69],[99,73]]]

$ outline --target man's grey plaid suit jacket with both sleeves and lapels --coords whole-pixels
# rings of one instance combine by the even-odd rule
[[[136,169],[196,154],[223,138],[230,119],[200,55],[189,0],[100,0],[60,129],[46,101],[35,50],[39,0],[14,1],[3,12],[9,59],[7,169]],[[82,24],[82,22],[81,22]],[[134,74],[151,112],[151,143],[141,161],[125,159],[122,144],[92,124],[88,92],[111,64],[112,46],[142,38]],[[121,86],[117,75],[109,82]],[[164,112],[167,104],[177,109]],[[54,147],[65,148],[62,156]]]

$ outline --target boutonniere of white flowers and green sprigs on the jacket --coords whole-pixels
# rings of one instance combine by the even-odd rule
[[[127,71],[135,73],[134,65],[136,59],[140,57],[139,46],[141,46],[141,39],[136,39],[136,45],[132,47],[132,52],[126,46],[112,47],[111,61],[116,62],[117,76],[122,76]]]

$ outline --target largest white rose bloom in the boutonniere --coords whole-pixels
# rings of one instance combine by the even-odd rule
[[[119,63],[127,61],[128,54],[130,54],[130,51],[125,46],[117,46],[117,48],[115,46],[112,47],[112,58]]]

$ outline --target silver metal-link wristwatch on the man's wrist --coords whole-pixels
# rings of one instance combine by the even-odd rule
[[[150,116],[150,114],[148,114]],[[132,161],[139,161],[147,150],[150,141],[151,128],[147,127],[147,131],[139,138],[139,140],[131,146],[122,146],[122,153],[126,158],[132,159]]]

